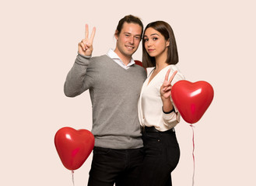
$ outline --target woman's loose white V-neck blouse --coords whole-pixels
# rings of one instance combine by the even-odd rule
[[[163,84],[165,75],[167,74],[168,69],[170,68],[170,76],[177,71],[177,74],[174,76],[172,85],[177,81],[184,80],[184,76],[181,74],[181,71],[178,70],[176,65],[170,64],[167,67],[164,67],[155,77],[149,82],[149,78],[152,72],[151,71],[146,78],[142,86],[142,91],[138,103],[138,112],[139,112],[139,122],[141,126],[155,126],[159,131],[166,131],[172,129],[174,126],[180,122],[181,115],[177,112],[177,108],[174,105],[172,98],[170,97],[171,102],[174,105],[175,112],[170,114],[165,114],[163,112],[163,102],[160,97],[160,87]]]

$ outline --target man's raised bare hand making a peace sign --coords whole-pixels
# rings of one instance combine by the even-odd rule
[[[93,31],[91,36],[88,39],[89,36],[89,28],[86,24],[86,37],[85,39],[82,39],[82,41],[79,43],[79,53],[84,56],[91,56],[93,53],[93,39],[96,32],[96,28],[93,27]]]

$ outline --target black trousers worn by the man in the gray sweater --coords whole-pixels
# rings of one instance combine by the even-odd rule
[[[94,147],[89,186],[134,186],[142,167],[143,150]]]

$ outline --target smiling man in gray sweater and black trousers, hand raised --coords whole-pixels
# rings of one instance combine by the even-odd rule
[[[116,48],[107,55],[91,57],[90,38],[79,43],[75,64],[65,81],[65,95],[75,97],[89,89],[93,105],[95,147],[89,171],[89,186],[135,185],[142,164],[142,138],[137,105],[146,71],[135,64],[132,54],[139,47],[143,25],[126,15],[115,31]]]

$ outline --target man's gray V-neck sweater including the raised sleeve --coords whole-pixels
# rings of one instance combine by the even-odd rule
[[[89,89],[95,146],[112,149],[143,146],[137,108],[145,79],[146,71],[136,64],[125,70],[107,55],[76,57],[64,91],[66,96],[75,97]]]

